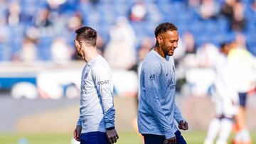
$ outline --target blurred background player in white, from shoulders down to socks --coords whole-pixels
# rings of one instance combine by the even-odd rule
[[[219,54],[213,65],[215,71],[215,103],[216,117],[210,121],[204,144],[226,144],[233,128],[233,117],[238,112],[238,92],[233,84],[232,69],[228,57]]]

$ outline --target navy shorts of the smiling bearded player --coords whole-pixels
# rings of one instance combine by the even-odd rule
[[[186,140],[181,135],[180,131],[176,131],[176,144],[186,144]],[[163,144],[165,140],[164,135],[151,135],[151,134],[142,134],[144,136],[145,144]]]

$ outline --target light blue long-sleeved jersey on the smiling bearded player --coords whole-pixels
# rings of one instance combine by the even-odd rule
[[[173,57],[164,58],[151,50],[142,64],[139,87],[139,133],[173,138],[178,130],[174,120],[183,120],[175,104]]]

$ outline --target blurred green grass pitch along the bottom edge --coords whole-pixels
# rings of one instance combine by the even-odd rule
[[[182,132],[188,144],[202,144],[206,136],[204,131]],[[252,143],[256,143],[256,131],[250,133]],[[233,134],[230,138],[233,137]],[[70,144],[72,133],[0,133],[1,144],[19,144],[24,140],[24,144]],[[230,140],[230,139],[229,139]],[[134,132],[119,132],[117,144],[142,144],[142,137]]]

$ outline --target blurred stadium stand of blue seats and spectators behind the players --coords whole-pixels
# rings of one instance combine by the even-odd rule
[[[0,62],[76,60],[74,31],[92,26],[112,67],[129,69],[163,21],[178,26],[177,58],[230,40],[256,55],[255,0],[0,0]]]

